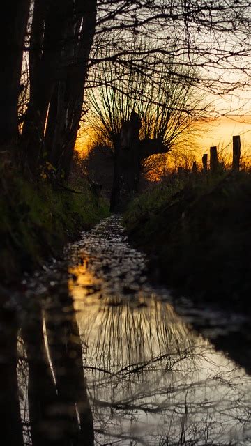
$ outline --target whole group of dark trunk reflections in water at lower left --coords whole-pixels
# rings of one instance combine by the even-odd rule
[[[8,351],[1,348],[1,355],[6,354],[9,377],[0,397],[8,420],[5,444],[91,446],[93,420],[67,286],[42,302],[40,296],[30,300],[21,330],[17,323],[11,324],[11,337],[5,330]]]

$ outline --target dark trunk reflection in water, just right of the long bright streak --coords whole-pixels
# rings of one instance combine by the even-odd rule
[[[67,316],[63,315],[67,310]],[[75,320],[73,301],[68,293],[62,293],[45,311],[47,337],[54,375],[56,392],[61,408],[62,420],[68,421],[68,430],[73,431],[76,444],[93,444],[93,420],[86,392],[82,364],[82,348]]]

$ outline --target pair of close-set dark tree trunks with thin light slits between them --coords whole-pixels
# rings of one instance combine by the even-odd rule
[[[64,154],[68,169],[66,153],[72,152],[75,144],[95,22],[95,0],[34,3],[30,100],[22,132],[24,156],[31,171],[36,170],[40,157],[47,155],[43,152],[45,133],[52,161],[58,164]]]

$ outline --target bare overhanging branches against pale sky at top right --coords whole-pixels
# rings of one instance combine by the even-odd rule
[[[153,67],[155,56],[161,63],[165,54],[174,56],[175,71],[185,57],[201,68],[201,86],[222,93],[248,82],[243,75],[250,73],[249,27],[248,1],[100,1],[91,63],[106,59],[110,46],[112,61],[134,66],[132,42],[135,36],[147,36],[151,49],[136,50],[142,66],[146,54],[153,56]],[[222,77],[226,70],[239,74],[229,80]]]

